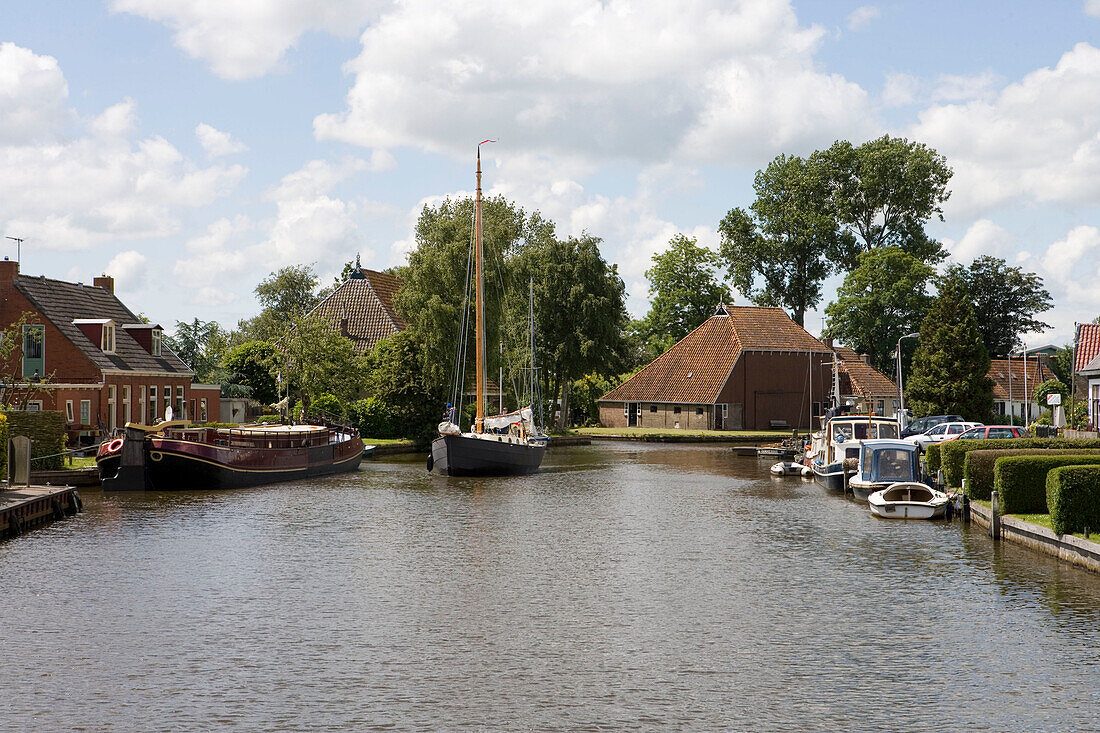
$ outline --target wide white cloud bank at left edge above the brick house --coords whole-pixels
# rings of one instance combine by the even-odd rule
[[[33,242],[35,251],[165,237],[179,229],[182,209],[210,204],[246,173],[240,165],[199,167],[164,138],[136,138],[136,105],[129,99],[82,123],[64,105],[28,106],[20,90],[46,88],[64,102],[56,62],[11,44],[0,54],[18,62],[0,62],[0,86],[15,90],[9,95],[13,108],[0,107],[0,117],[15,120],[9,131],[19,133],[20,121],[33,119],[42,130],[72,127],[74,133],[0,139],[0,227]]]

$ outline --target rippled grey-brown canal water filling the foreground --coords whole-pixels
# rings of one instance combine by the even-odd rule
[[[0,727],[1100,730],[1100,577],[767,468],[86,491],[0,544]]]

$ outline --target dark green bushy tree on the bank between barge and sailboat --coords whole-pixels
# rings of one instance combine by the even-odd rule
[[[443,412],[443,391],[425,380],[424,351],[407,331],[378,341],[367,360],[366,389],[389,411],[385,436],[427,442]]]

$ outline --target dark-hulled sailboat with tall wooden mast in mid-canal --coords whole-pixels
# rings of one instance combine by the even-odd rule
[[[474,332],[476,341],[477,412],[469,433],[455,424],[455,409],[448,405],[446,419],[439,424],[439,437],[431,444],[428,470],[443,475],[521,475],[534,473],[542,464],[548,438],[535,425],[530,406],[513,413],[485,415],[485,284],[482,261],[481,145],[477,145],[477,192],[474,198]],[[534,332],[534,330],[532,330]],[[534,353],[534,337],[532,337]],[[534,363],[531,381],[535,380]],[[457,381],[461,384],[461,380]]]

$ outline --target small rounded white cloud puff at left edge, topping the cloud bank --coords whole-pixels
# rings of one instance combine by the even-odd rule
[[[56,58],[0,43],[0,145],[52,139],[67,121],[67,97]]]

